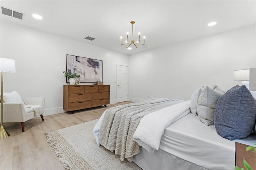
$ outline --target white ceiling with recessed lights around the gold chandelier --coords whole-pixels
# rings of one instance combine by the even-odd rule
[[[256,21],[255,0],[1,0],[0,5],[24,13],[20,20],[1,12],[0,20],[128,55],[251,26]],[[32,14],[43,19],[36,20]],[[129,32],[131,39],[131,21],[135,21],[134,40],[140,32],[146,36],[146,44],[128,50],[120,45],[120,36],[125,41]],[[207,26],[213,21],[215,26]],[[87,36],[96,39],[85,40]]]

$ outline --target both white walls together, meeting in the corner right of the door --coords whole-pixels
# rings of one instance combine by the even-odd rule
[[[116,103],[116,65],[129,66],[129,98],[189,100],[200,86],[224,91],[241,82],[233,71],[256,67],[255,26],[168,45],[134,55],[1,21],[0,57],[14,59],[16,73],[4,73],[4,91],[45,97],[45,115],[63,112],[66,54],[103,60],[103,81]]]

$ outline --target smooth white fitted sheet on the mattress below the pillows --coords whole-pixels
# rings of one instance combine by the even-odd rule
[[[160,149],[210,170],[234,170],[235,142],[189,113],[166,128]]]

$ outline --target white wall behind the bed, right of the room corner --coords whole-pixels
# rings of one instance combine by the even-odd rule
[[[168,45],[129,57],[129,97],[190,100],[202,85],[227,91],[233,71],[256,67],[255,26]]]

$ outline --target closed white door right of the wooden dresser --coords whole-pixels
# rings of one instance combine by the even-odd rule
[[[117,102],[128,101],[128,66],[117,65]]]

